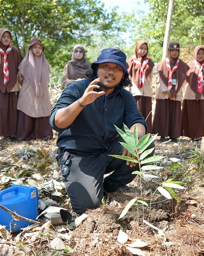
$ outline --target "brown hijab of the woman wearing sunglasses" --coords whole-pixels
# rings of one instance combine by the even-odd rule
[[[74,58],[74,50],[80,48],[83,51],[83,57],[80,60]],[[86,71],[91,69],[90,64],[85,59],[85,50],[82,45],[75,45],[71,61],[67,62],[69,79],[77,80],[78,78],[87,78]]]

